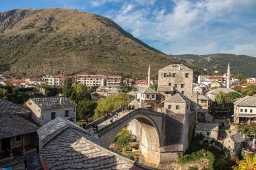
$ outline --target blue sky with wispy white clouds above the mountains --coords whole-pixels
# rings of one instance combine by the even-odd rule
[[[256,56],[255,0],[0,0],[0,11],[64,5],[109,17],[166,54]]]

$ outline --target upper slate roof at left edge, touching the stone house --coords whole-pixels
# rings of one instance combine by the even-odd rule
[[[6,99],[0,98],[0,114],[6,114],[6,113],[29,113],[30,110],[28,108],[23,107],[22,105],[13,103]]]

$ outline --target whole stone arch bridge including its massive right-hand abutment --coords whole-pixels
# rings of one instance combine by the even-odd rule
[[[185,114],[164,114],[143,108],[124,113],[116,110],[114,114],[113,123],[104,116],[88,124],[86,129],[109,146],[129,124],[133,134],[140,139],[141,153],[146,161],[156,165],[177,159],[177,154],[187,149],[189,126]],[[98,125],[97,132],[92,124]]]

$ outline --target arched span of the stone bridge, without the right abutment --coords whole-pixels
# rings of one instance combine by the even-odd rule
[[[137,132],[137,135],[140,135],[141,153],[148,163],[158,165],[160,163],[160,138],[162,130],[162,114],[160,113],[150,110],[134,110],[113,122],[113,124],[98,130],[98,138],[109,146],[115,140],[117,134],[132,121],[139,124],[139,128],[133,128],[137,131],[140,130],[140,132]]]

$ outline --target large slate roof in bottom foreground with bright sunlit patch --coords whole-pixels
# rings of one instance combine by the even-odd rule
[[[113,152],[86,130],[65,118],[56,119],[38,130],[46,133],[52,127],[56,132],[40,150],[49,169],[130,169],[134,166],[134,161]],[[61,128],[56,122],[70,126]]]

